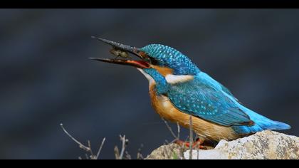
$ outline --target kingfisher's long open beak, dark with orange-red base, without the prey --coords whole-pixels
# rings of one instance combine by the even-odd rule
[[[150,68],[150,63],[147,62],[148,57],[145,55],[145,53],[140,51],[139,48],[127,46],[127,45],[124,45],[122,43],[117,43],[117,42],[114,42],[114,41],[108,41],[104,38],[99,38],[99,37],[95,37],[95,36],[92,36],[92,38],[96,38],[99,41],[107,43],[110,46],[112,46],[113,48],[119,49],[120,51],[125,51],[125,52],[128,52],[128,53],[132,53],[133,55],[137,56],[138,58],[141,58],[141,60],[140,61],[135,61],[135,60],[127,60],[127,59],[108,59],[108,58],[89,58],[89,59],[95,60],[95,61],[102,61],[102,62],[106,62],[106,63],[131,65],[131,66],[134,66],[136,68]]]

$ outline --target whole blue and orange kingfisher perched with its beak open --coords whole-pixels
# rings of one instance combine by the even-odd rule
[[[230,141],[263,130],[290,129],[288,124],[271,120],[245,107],[229,89],[172,47],[150,44],[135,48],[93,38],[138,59],[90,59],[137,68],[149,80],[151,104],[160,117],[177,122],[182,127],[191,126],[203,140]]]

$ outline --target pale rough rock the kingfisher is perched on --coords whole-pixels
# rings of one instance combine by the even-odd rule
[[[163,145],[146,159],[189,159],[189,149]],[[266,130],[238,140],[221,140],[214,149],[192,150],[192,159],[299,159],[299,137]]]

